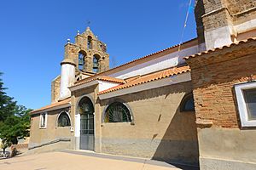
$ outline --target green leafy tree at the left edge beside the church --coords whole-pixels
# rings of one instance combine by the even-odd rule
[[[0,76],[3,73],[0,72]],[[0,78],[0,139],[2,139],[3,153],[11,144],[17,144],[18,139],[29,136],[30,109],[17,105],[13,98],[9,97],[4,90],[3,80]]]

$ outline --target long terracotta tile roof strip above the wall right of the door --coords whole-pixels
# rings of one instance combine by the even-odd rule
[[[164,71],[154,72],[154,73],[145,75],[143,77],[138,77],[137,79],[132,80],[131,82],[127,82],[125,84],[121,84],[121,85],[118,85],[118,86],[113,87],[113,88],[108,88],[107,90],[99,92],[98,94],[99,95],[100,94],[107,94],[109,92],[117,91],[119,89],[130,88],[130,87],[133,87],[133,86],[137,86],[139,84],[143,84],[143,83],[146,83],[146,82],[152,82],[152,81],[155,81],[155,80],[160,80],[160,79],[166,78],[166,77],[172,77],[174,75],[181,74],[181,73],[188,72],[188,71],[190,71],[189,65],[185,65],[185,66],[180,66],[180,67],[174,67],[174,68],[167,69],[167,70],[164,70]]]

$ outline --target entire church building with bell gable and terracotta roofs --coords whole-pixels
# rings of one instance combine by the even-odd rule
[[[92,150],[256,168],[256,2],[195,1],[197,37],[109,69],[90,27],[67,40],[30,152]]]

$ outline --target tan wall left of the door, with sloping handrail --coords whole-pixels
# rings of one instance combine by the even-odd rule
[[[40,128],[40,115],[31,117],[31,133],[29,149],[31,152],[42,152],[49,150],[72,149],[73,133],[70,127],[57,127],[57,117],[61,111],[69,111],[68,108],[47,112],[47,126]],[[71,120],[73,126],[73,120]]]

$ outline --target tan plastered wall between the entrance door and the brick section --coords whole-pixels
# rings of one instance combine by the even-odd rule
[[[162,161],[198,163],[195,112],[180,112],[190,82],[119,96],[130,106],[131,122],[102,122],[102,152]],[[102,111],[116,99],[100,101]]]

